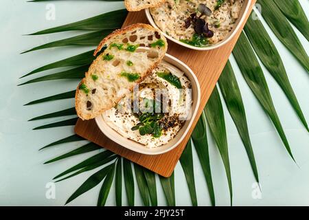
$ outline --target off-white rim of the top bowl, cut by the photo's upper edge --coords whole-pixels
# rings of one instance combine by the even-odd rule
[[[227,42],[229,42],[229,41],[231,41],[231,39],[233,39],[233,36],[235,36],[236,32],[238,32],[242,23],[244,23],[244,19],[246,17],[246,14],[249,13],[249,8],[250,8],[251,3],[252,3],[252,0],[244,0],[244,5],[242,7],[242,11],[240,12],[240,18],[236,21],[233,30],[231,30],[231,32],[229,32],[229,34],[227,34],[227,36],[225,37],[225,39],[223,41],[220,41],[219,43],[216,43],[215,45],[209,45],[207,47],[194,47],[192,45],[188,45],[187,43],[183,43],[179,40],[173,39],[172,36],[169,36],[168,34],[165,34],[164,32],[161,32],[161,31],[160,32],[170,41],[173,41],[174,43],[182,45],[183,47],[187,47],[187,48],[190,48],[192,50],[214,50],[218,47],[221,47],[222,45],[225,45]],[[145,12],[146,12],[146,17],[147,17],[150,25],[152,25],[152,27],[160,30],[160,28],[158,28],[158,26],[156,25],[155,21],[153,21],[152,16],[151,16],[148,8],[145,9]]]

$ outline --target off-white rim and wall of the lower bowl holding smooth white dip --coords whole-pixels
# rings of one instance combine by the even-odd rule
[[[98,124],[100,130],[102,131],[102,133],[104,133],[104,135],[106,135],[106,137],[113,140],[113,142],[116,142],[117,144],[130,149],[131,151],[147,155],[158,155],[161,153],[171,151],[182,142],[183,138],[185,137],[185,135],[187,135],[187,132],[192,126],[194,118],[196,117],[196,113],[198,111],[198,107],[200,105],[201,100],[201,89],[198,83],[198,79],[196,78],[192,70],[187,65],[185,65],[185,63],[179,61],[179,59],[174,58],[169,54],[165,54],[163,61],[170,63],[171,65],[174,65],[175,67],[180,69],[182,72],[185,73],[185,76],[187,76],[187,78],[191,81],[192,101],[193,101],[192,112],[191,112],[192,117],[190,118],[190,120],[185,121],[185,124],[183,125],[179,133],[177,133],[177,135],[172,140],[170,140],[170,142],[157,148],[147,148],[143,144],[139,144],[138,142],[123,137],[122,135],[117,133],[117,131],[111,129],[111,127],[106,124],[102,115],[95,118],[95,122]]]

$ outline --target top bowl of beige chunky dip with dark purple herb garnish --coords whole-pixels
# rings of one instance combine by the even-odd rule
[[[236,34],[252,0],[166,0],[145,10],[149,23],[170,41],[193,50],[214,50]]]

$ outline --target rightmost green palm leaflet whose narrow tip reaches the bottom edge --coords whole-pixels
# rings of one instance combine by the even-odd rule
[[[205,110],[211,134],[214,136],[214,140],[216,141],[225,166],[225,173],[227,174],[227,181],[229,184],[229,196],[232,205],[233,190],[231,168],[229,166],[229,150],[227,148],[227,131],[225,130],[225,116],[223,115],[222,103],[217,87],[214,88],[214,91],[206,104]]]

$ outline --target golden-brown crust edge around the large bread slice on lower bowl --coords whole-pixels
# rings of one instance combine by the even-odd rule
[[[94,56],[96,56],[101,50],[102,50],[102,47],[104,47],[104,45],[106,45],[106,43],[108,43],[108,41],[110,41],[111,39],[113,39],[115,36],[119,36],[121,34],[124,34],[126,32],[130,32],[132,30],[135,30],[137,28],[145,28],[145,29],[148,29],[150,31],[153,31],[153,32],[157,32],[157,30],[155,28],[152,28],[152,26],[150,25],[147,25],[147,24],[144,24],[144,23],[136,23],[136,24],[133,24],[133,25],[130,25],[126,28],[123,28],[123,29],[120,29],[120,30],[115,30],[113,33],[109,34],[108,36],[106,36],[106,38],[104,38],[100,44],[98,45],[97,49],[95,50],[94,52]],[[135,83],[141,83],[144,78],[146,78],[147,76],[149,76],[150,74],[152,74],[152,70],[155,69],[155,67],[157,67],[157,65],[161,62],[163,56],[165,56],[165,53],[167,51],[167,48],[168,48],[168,43],[165,39],[165,37],[161,34],[161,39],[164,41],[165,43],[165,46],[162,48],[162,52],[161,54],[159,54],[158,58],[157,58],[157,61],[155,61],[155,63],[153,63],[153,65],[151,65],[150,67],[148,67],[146,73],[141,77],[139,78],[139,80],[135,81]],[[93,63],[91,64],[92,65],[95,65],[96,63],[98,62],[98,59],[95,59],[93,61]],[[89,67],[90,69],[90,67]],[[84,104],[81,100],[81,97],[80,96],[83,91],[79,89],[80,85],[82,85],[82,83],[85,83],[86,81],[86,78],[89,78],[91,77],[91,73],[89,72],[86,72],[85,73],[85,77],[82,79],[82,81],[79,83],[78,87],[76,88],[76,96],[75,96],[75,99],[76,99],[76,102],[75,102],[75,107],[76,107],[76,112],[78,114],[78,117],[81,118],[82,120],[90,120],[90,119],[93,119],[95,118],[96,116],[98,115],[101,115],[102,113],[104,113],[104,111],[108,110],[108,109],[111,109],[112,107],[115,106],[115,104],[117,104],[120,100],[122,100],[123,97],[119,97],[117,98],[117,100],[113,100],[115,102],[111,103],[111,104],[106,104],[102,109],[100,109],[99,111],[95,111],[95,113],[85,113],[84,111],[84,107],[82,107],[82,104]],[[133,86],[128,88],[130,91],[133,90]]]

